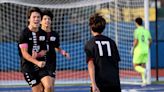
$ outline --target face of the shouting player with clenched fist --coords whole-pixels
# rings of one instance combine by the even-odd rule
[[[29,18],[29,25],[31,25],[34,28],[37,28],[40,26],[41,21],[41,15],[38,12],[32,12],[31,16]]]

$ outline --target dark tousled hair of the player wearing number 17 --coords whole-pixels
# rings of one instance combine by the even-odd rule
[[[98,13],[92,15],[89,19],[89,26],[94,32],[102,33],[105,29],[106,21]]]

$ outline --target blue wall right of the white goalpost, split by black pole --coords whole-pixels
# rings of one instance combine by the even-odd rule
[[[152,35],[153,43],[151,46],[151,67],[156,66],[156,41],[155,41],[155,22],[150,22],[150,32]],[[163,55],[164,55],[164,20],[158,20],[158,66],[164,68]]]

